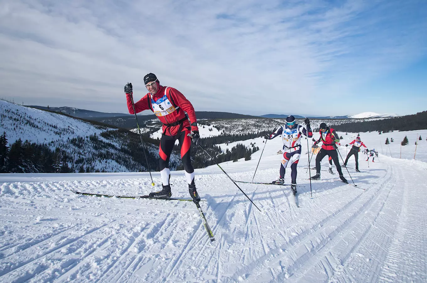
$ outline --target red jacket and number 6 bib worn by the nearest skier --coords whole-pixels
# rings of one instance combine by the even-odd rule
[[[178,131],[192,130],[198,131],[196,113],[193,105],[184,94],[168,86],[158,84],[159,90],[156,94],[147,93],[139,101],[135,102],[137,113],[151,109],[163,123],[163,133],[167,136],[175,136]],[[126,100],[130,114],[135,114],[132,107],[132,94],[126,94]],[[184,112],[187,112],[190,122]],[[181,129],[181,130],[180,130]]]

